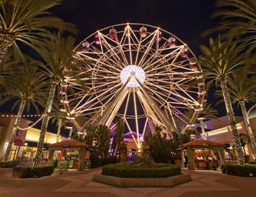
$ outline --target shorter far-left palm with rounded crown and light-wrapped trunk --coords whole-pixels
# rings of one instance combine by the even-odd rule
[[[37,72],[37,61],[26,58],[25,62],[19,64],[16,65],[18,69],[12,72],[4,82],[3,103],[14,99],[15,103],[12,105],[12,109],[18,107],[18,114],[4,155],[4,161],[9,160],[10,150],[25,107],[29,111],[32,106],[38,112],[38,105],[42,106],[42,101],[45,99],[45,90],[48,87],[45,76]]]

